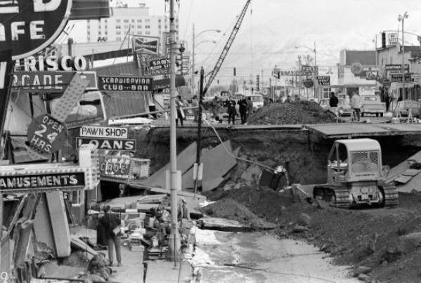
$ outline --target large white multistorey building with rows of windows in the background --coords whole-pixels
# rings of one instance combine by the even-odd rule
[[[110,18],[78,21],[79,28],[73,30],[73,33],[77,32],[77,43],[118,42],[123,41],[128,34],[162,39],[162,33],[169,31],[169,19],[164,15],[150,15],[150,8],[145,4],[139,4],[138,7],[121,5],[111,9]],[[179,18],[176,18],[176,30],[179,30]],[[179,40],[178,32],[176,40]]]

